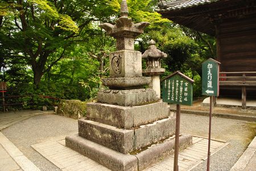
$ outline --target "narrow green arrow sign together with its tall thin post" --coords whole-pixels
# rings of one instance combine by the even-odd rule
[[[220,64],[220,62],[210,58],[207,61],[205,61],[202,65],[202,94],[210,96],[207,171],[210,170],[210,136],[212,131],[212,104],[213,96],[217,97],[219,94]]]

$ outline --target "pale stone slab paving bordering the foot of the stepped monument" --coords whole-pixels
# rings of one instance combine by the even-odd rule
[[[211,141],[211,154],[213,155],[228,143],[224,141]],[[53,140],[46,143],[31,146],[42,156],[46,157],[61,170],[109,170],[88,157],[65,147],[65,140]],[[179,153],[179,169],[190,170],[207,159],[208,139],[193,136],[193,145]],[[173,170],[174,155],[167,157],[163,161],[152,165],[146,171]]]

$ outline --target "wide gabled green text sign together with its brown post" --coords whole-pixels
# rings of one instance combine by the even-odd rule
[[[163,101],[176,104],[174,171],[179,170],[180,105],[192,106],[193,80],[176,71],[163,79]]]

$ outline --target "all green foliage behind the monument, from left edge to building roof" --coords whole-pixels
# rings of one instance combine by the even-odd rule
[[[0,2],[0,57],[8,85],[9,109],[51,109],[60,99],[95,99],[101,78],[109,76],[109,53],[115,40],[98,24],[114,23],[121,0],[28,0]],[[163,77],[181,70],[193,78],[194,95],[201,95],[201,63],[216,54],[213,37],[177,26],[154,12],[157,0],[128,0],[134,23],[150,22],[136,45],[142,53],[154,39],[168,54]],[[40,83],[40,84],[39,84]]]

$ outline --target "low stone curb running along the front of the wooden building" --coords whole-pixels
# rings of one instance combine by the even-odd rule
[[[176,112],[176,109],[170,109],[172,112]],[[200,110],[182,110],[181,113],[185,114],[194,114],[194,115],[202,115],[202,116],[209,116],[209,112],[207,111],[200,111]],[[216,116],[219,118],[227,118],[227,119],[237,119],[237,120],[245,120],[249,122],[255,122],[256,116],[244,116],[244,115],[234,115],[234,114],[223,114],[219,112],[213,112],[212,116]]]

